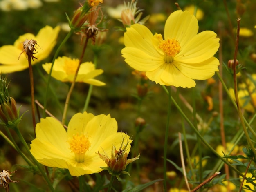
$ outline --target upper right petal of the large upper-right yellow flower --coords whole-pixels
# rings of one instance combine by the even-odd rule
[[[184,63],[200,63],[207,60],[218,51],[219,40],[213,31],[198,33],[182,47],[175,60]]]

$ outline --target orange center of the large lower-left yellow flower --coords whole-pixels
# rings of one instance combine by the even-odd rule
[[[73,135],[72,139],[70,139],[68,143],[70,144],[71,152],[74,152],[75,154],[75,160],[78,163],[82,163],[85,158],[85,153],[91,146],[88,136],[85,136],[84,134]]]

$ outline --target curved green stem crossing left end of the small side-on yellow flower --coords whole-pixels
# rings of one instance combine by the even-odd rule
[[[58,53],[60,52],[61,48],[63,47],[63,45],[65,44],[65,42],[70,38],[70,36],[72,35],[72,33],[74,32],[74,30],[70,30],[69,33],[67,33],[67,36],[65,36],[65,38],[63,39],[63,41],[61,42],[61,45],[58,47],[58,49],[56,50],[55,54],[54,54],[54,57],[52,59],[52,66],[51,66],[51,69],[49,71],[49,76],[48,76],[48,79],[47,79],[47,84],[46,84],[46,89],[45,89],[45,100],[44,100],[44,108],[43,108],[43,118],[45,118],[46,116],[46,113],[45,113],[45,110],[46,110],[46,105],[47,105],[47,96],[48,96],[48,89],[49,89],[49,84],[50,84],[50,80],[51,80],[51,75],[52,75],[52,68],[53,68],[53,65],[54,65],[54,61],[55,59],[57,58],[58,56]]]

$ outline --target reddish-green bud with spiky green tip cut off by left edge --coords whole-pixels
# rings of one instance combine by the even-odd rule
[[[19,110],[16,108],[16,101],[9,96],[7,77],[0,75],[0,119],[2,125],[13,128],[20,123]]]

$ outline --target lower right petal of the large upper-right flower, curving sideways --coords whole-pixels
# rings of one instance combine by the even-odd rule
[[[174,61],[172,65],[175,65],[182,74],[189,78],[206,80],[211,78],[216,71],[219,71],[218,65],[220,65],[220,62],[217,58],[211,57],[201,63],[190,64]]]

